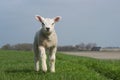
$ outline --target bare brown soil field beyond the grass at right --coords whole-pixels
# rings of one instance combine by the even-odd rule
[[[96,52],[96,51],[81,51],[81,52],[63,52],[69,55],[86,56],[97,59],[120,59],[120,52]]]

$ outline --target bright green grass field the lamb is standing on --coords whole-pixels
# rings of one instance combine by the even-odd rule
[[[56,72],[34,71],[33,53],[0,50],[0,80],[120,80],[120,60],[57,53]]]

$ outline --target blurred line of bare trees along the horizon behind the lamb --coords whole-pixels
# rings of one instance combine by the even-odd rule
[[[23,50],[32,51],[31,43],[19,43],[15,45],[5,44],[1,47],[3,50]],[[77,45],[58,46],[58,51],[99,51],[101,47],[97,47],[96,43],[80,43]]]

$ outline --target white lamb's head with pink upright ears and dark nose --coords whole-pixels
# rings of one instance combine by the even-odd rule
[[[38,15],[35,16],[35,18],[41,22],[42,32],[48,35],[54,32],[55,23],[61,19],[60,16],[50,19],[50,18],[43,18],[42,16],[38,16]]]

